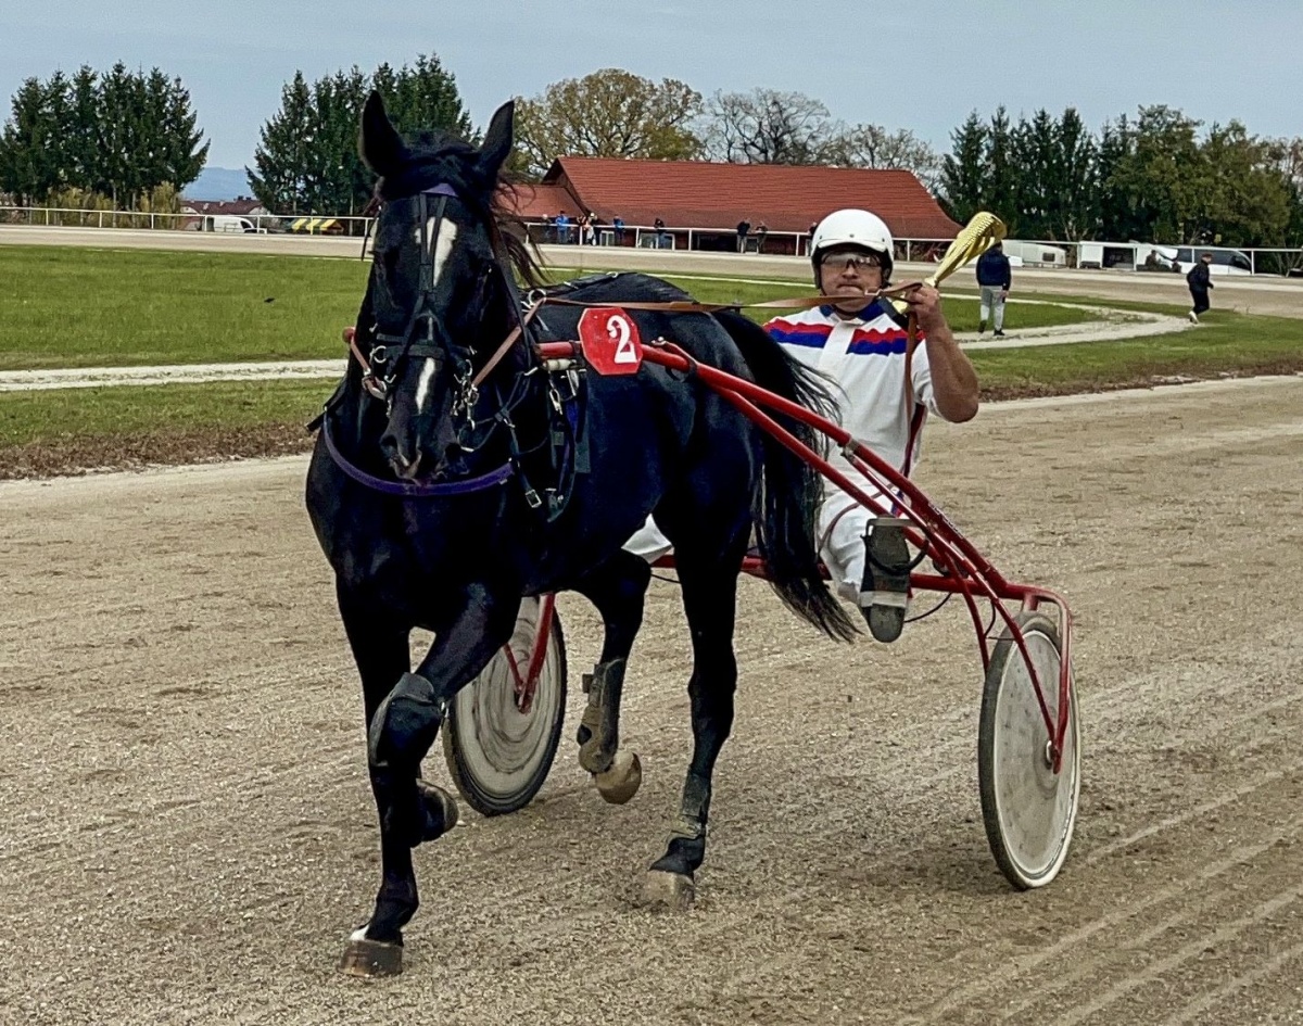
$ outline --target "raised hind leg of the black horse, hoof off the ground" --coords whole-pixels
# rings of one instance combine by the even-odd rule
[[[584,674],[588,704],[576,734],[579,762],[593,775],[598,794],[612,805],[629,801],[642,784],[637,753],[620,747],[620,700],[650,579],[646,561],[622,551],[576,589],[597,607],[605,630],[601,661]]]

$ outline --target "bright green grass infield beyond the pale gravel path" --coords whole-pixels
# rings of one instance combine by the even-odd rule
[[[310,256],[7,246],[0,281],[14,302],[0,319],[0,370],[337,357],[367,268]],[[668,280],[704,302],[810,292],[791,281]],[[1016,310],[1020,327],[1092,316],[1062,306]],[[751,311],[758,320],[771,312]],[[947,312],[956,329],[976,329],[976,302],[955,298]]]

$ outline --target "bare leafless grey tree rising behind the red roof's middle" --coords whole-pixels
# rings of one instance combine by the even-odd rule
[[[827,107],[804,92],[717,92],[706,112],[706,151],[731,164],[821,164],[835,137]]]

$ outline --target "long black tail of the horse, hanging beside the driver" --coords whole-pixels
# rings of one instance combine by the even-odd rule
[[[715,315],[741,350],[756,384],[823,417],[837,415],[837,402],[822,375],[805,367],[764,328],[741,314]],[[782,414],[784,428],[816,452],[825,452],[822,432]],[[859,631],[820,573],[816,516],[823,479],[808,462],[765,432],[764,474],[752,497],[752,521],[774,591],[792,612],[830,638],[851,641]]]

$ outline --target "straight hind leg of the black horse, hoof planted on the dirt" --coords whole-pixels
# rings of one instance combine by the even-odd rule
[[[739,557],[740,559],[740,557]],[[679,561],[683,607],[692,629],[692,762],[683,784],[679,815],[670,827],[665,854],[648,870],[644,897],[672,909],[696,898],[696,871],[706,858],[706,825],[715,762],[732,732],[737,659],[732,635],[737,573],[713,568],[706,574]]]

